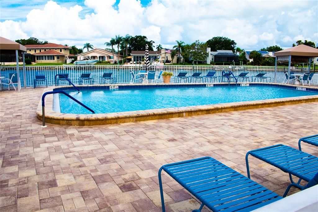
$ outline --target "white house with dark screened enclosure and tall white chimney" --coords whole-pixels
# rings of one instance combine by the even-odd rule
[[[207,53],[209,53],[206,58],[206,63],[211,62],[238,62],[239,56],[234,54],[232,50],[217,50],[216,52],[211,52],[211,48],[206,48]]]

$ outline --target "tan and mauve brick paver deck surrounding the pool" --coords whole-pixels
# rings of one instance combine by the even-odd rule
[[[297,148],[299,138],[318,134],[318,102],[42,128],[35,112],[42,92],[0,92],[0,211],[161,211],[157,172],[163,164],[211,156],[246,176],[247,151]],[[318,156],[317,147],[302,145]],[[284,193],[286,173],[253,158],[250,168],[252,180]],[[167,211],[199,207],[176,181],[165,175],[163,183]]]

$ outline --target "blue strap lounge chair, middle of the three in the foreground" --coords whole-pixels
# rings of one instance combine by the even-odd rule
[[[287,187],[283,197],[287,195],[292,186],[304,189],[304,187],[300,185],[301,180],[309,182],[315,177],[316,173],[318,173],[318,158],[316,156],[301,152],[286,145],[278,144],[247,152],[245,160],[248,178],[251,178],[248,165],[249,155],[289,174],[291,184]],[[292,179],[292,175],[299,178],[297,183]]]

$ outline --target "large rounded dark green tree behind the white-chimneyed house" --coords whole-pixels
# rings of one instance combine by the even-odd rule
[[[225,37],[213,37],[206,41],[206,45],[211,48],[212,52],[216,52],[217,50],[232,50],[234,53],[236,47],[234,40]]]

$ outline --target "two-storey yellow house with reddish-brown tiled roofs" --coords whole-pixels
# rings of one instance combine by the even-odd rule
[[[27,57],[36,63],[65,63],[70,56],[69,46],[55,43],[47,43],[42,45],[25,45]],[[73,56],[74,58],[74,56]]]

